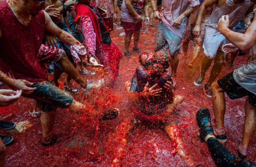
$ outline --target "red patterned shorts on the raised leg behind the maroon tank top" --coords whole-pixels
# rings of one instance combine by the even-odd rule
[[[42,44],[39,52],[38,52],[38,59],[41,63],[45,63],[47,61],[58,61],[62,56],[64,50],[61,48],[52,49],[52,47],[48,47],[48,45]]]

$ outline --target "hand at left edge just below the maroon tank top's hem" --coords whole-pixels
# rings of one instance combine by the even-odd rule
[[[33,93],[34,90],[37,88],[30,88],[28,86],[32,86],[33,83],[26,81],[24,79],[11,79],[10,82],[5,83],[8,87],[10,87],[12,90],[22,90],[22,94],[29,95]]]

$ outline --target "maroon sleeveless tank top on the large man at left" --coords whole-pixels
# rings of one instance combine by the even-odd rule
[[[32,16],[29,25],[16,18],[6,1],[0,2],[0,70],[15,79],[32,83],[48,78],[45,64],[37,57],[45,29],[45,15],[41,11]]]

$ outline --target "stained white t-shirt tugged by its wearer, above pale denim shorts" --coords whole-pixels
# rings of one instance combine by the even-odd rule
[[[182,20],[180,27],[173,26],[173,21],[189,6],[196,7],[199,4],[199,0],[163,0],[163,25],[182,38],[186,31],[187,17]]]

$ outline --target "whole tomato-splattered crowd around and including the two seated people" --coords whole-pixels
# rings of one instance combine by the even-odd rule
[[[127,133],[138,127],[139,121],[162,124],[176,143],[178,155],[188,166],[196,166],[172,114],[184,100],[183,95],[174,94],[179,81],[178,55],[183,51],[187,59],[189,42],[195,40],[188,67],[193,68],[200,61],[199,54],[204,54],[200,75],[194,81],[196,86],[203,83],[214,60],[204,91],[212,97],[215,124],[211,126],[208,108],[201,108],[196,114],[200,138],[207,143],[217,166],[256,166],[245,160],[256,130],[255,8],[253,0],[0,0],[0,82],[10,88],[0,90],[0,107],[14,103],[20,96],[34,99],[32,116],[41,116],[41,144],[45,147],[57,142],[53,135],[57,108],[84,113],[98,121],[117,118],[117,108],[88,111],[90,106],[76,101],[74,96],[80,92],[94,98],[90,94],[93,89],[113,89],[120,61],[131,57],[129,45],[133,37],[132,50],[139,53],[139,63],[131,82],[125,82],[124,87],[134,115],[117,124],[115,142],[121,147],[112,166],[120,163]],[[154,51],[149,51],[139,48],[138,43],[143,26],[153,26],[152,17],[159,22]],[[116,21],[125,33],[123,53],[111,38]],[[234,57],[249,49],[246,65],[215,81],[229,53],[233,65]],[[98,73],[97,68],[103,68],[104,75],[91,83],[87,76]],[[49,80],[52,72],[53,80]],[[67,76],[62,90],[58,80],[63,72]],[[73,86],[72,79],[81,88]],[[247,96],[237,156],[221,144],[228,137],[224,128],[224,92],[230,99]],[[0,127],[14,128],[15,124],[0,122]],[[4,166],[5,145],[12,142],[12,137],[0,137],[0,166]]]

